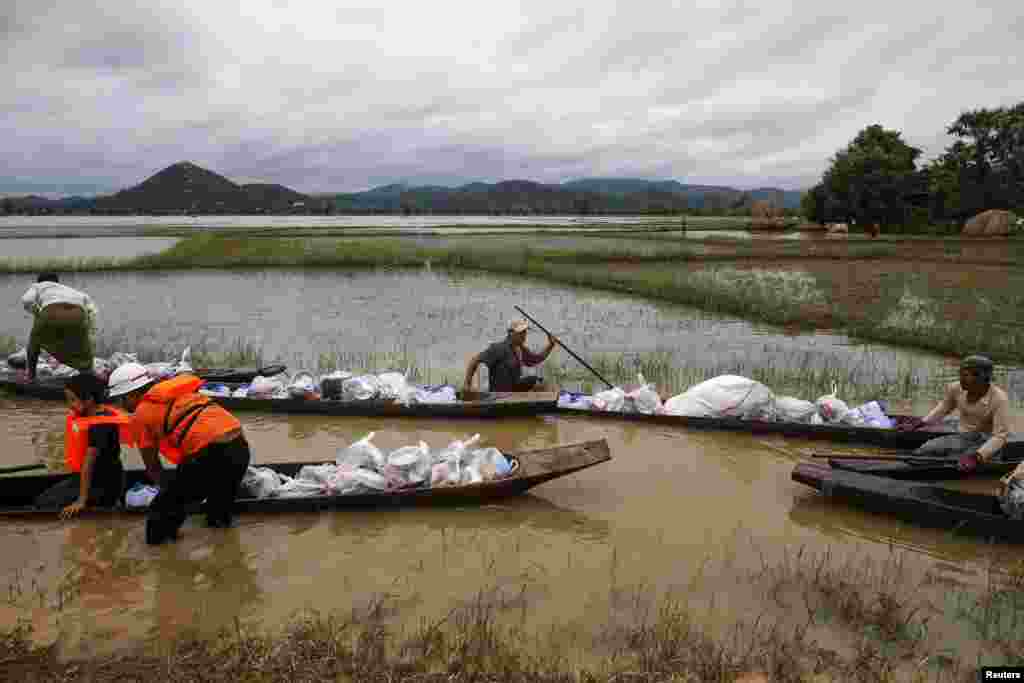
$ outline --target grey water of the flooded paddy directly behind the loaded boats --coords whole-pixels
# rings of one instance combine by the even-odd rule
[[[31,278],[0,276],[0,336],[25,343],[19,297]],[[853,379],[879,383],[900,369],[918,379],[947,371],[936,356],[854,345],[842,336],[787,335],[777,328],[638,297],[522,279],[416,271],[327,270],[73,273],[68,284],[99,306],[99,352],[161,349],[177,356],[188,344],[211,350],[242,340],[264,359],[315,370],[319,354],[406,349],[418,362],[453,371],[504,337],[522,306],[577,353],[608,353],[632,362],[660,352],[678,368],[852,368]],[[531,333],[527,343],[544,339]],[[578,370],[565,353],[553,361]],[[358,370],[358,369],[353,369]]]

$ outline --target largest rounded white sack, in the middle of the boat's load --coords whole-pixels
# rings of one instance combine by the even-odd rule
[[[775,395],[757,380],[738,375],[720,375],[665,401],[665,414],[772,420],[775,417]]]

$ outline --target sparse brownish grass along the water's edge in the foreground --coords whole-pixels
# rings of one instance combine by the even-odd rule
[[[703,581],[695,578],[690,590]],[[345,613],[302,613],[283,630],[236,621],[212,639],[184,632],[89,659],[61,658],[58,642],[36,643],[31,628],[16,623],[0,636],[0,674],[97,682],[877,683],[973,681],[981,661],[1022,663],[1019,571],[989,569],[980,588],[935,581],[915,575],[897,554],[881,563],[840,562],[801,548],[733,583],[731,590],[760,596],[757,613],[738,620],[713,602],[701,605],[696,594],[612,582],[609,600],[620,606],[609,606],[603,622],[539,633],[522,615],[528,591],[493,586],[412,630],[396,625],[401,596],[372,595]],[[71,595],[63,599],[74,601]]]

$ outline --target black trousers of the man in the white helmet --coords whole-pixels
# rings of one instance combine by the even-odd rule
[[[249,443],[240,436],[227,443],[211,443],[168,473],[145,516],[145,542],[156,545],[177,538],[187,506],[204,500],[209,525],[228,526],[250,457]]]

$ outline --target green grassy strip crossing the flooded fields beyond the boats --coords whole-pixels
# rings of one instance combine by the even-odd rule
[[[178,269],[178,268],[407,268],[428,264],[441,269],[469,269],[539,278],[549,282],[624,292],[688,304],[752,321],[797,329],[836,329],[865,340],[919,347],[939,353],[963,355],[983,349],[1005,361],[1024,360],[1024,326],[1016,315],[1024,309],[1022,295],[999,303],[1011,317],[986,321],[943,319],[940,314],[907,315],[885,323],[864,317],[862,311],[816,296],[806,285],[784,279],[732,278],[724,282],[714,270],[699,272],[697,265],[737,260],[765,263],[771,259],[827,258],[836,260],[891,258],[905,245],[873,243],[740,244],[711,253],[708,245],[693,242],[667,244],[643,242],[609,247],[601,240],[581,242],[579,248],[496,247],[480,240],[478,246],[423,247],[402,240],[324,241],[241,239],[216,234],[183,240],[156,255],[108,263],[102,267],[68,262],[7,264],[8,271],[53,269]],[[916,254],[915,254],[916,258]],[[953,259],[954,260],[954,259]],[[636,266],[616,268],[616,265]],[[646,265],[650,265],[647,269]],[[609,267],[611,266],[611,267]],[[656,267],[655,267],[656,266]],[[684,267],[685,266],[685,267]],[[992,283],[992,293],[999,293]],[[977,295],[963,289],[965,301]],[[1006,296],[1006,293],[1002,293]],[[1015,298],[1016,297],[1016,298]],[[935,311],[932,311],[933,313]]]

